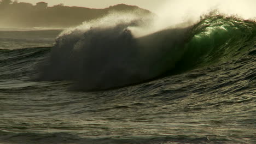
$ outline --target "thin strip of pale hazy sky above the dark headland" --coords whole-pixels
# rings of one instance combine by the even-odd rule
[[[125,3],[129,5],[137,5],[138,7],[156,11],[159,7],[170,0],[19,0],[19,2],[28,2],[36,4],[37,2],[47,2],[49,6],[63,3],[67,6],[79,6],[88,8],[106,8],[110,5]]]

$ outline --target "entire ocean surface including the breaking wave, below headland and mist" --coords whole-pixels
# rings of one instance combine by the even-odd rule
[[[138,23],[0,32],[0,143],[256,143],[256,22]]]

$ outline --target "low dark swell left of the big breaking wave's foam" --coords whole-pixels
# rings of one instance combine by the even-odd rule
[[[27,49],[0,49],[0,79],[17,80],[24,76],[35,75],[38,61],[45,58],[50,47],[34,47]]]

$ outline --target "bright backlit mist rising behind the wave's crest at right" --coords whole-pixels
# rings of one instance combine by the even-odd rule
[[[210,12],[255,20],[256,10],[254,5],[256,5],[256,2],[253,0],[168,1],[155,11],[158,17],[155,17],[152,21],[150,28],[147,28],[146,31],[142,30],[141,33],[135,33],[135,35],[146,35],[170,27],[191,26],[199,22],[203,15],[208,15]]]

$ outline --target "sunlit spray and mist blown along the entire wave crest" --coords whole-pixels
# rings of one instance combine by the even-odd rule
[[[256,19],[256,10],[254,5],[256,4],[253,0],[238,0],[238,1],[220,1],[220,0],[212,0],[212,1],[203,1],[203,0],[195,0],[188,2],[186,0],[181,1],[169,1],[162,3],[162,6],[155,11],[156,16],[150,17],[138,17],[136,13],[110,13],[109,15],[96,20],[97,25],[101,25],[102,27],[107,26],[115,26],[116,22],[122,21],[136,21],[141,19],[144,21],[144,24],[140,23],[138,26],[129,26],[128,28],[131,30],[132,34],[135,37],[142,37],[144,35],[148,35],[154,32],[161,31],[163,29],[175,28],[175,27],[188,27],[196,22],[199,22],[200,19],[204,15],[208,15],[209,13],[213,14],[223,14],[226,16],[237,16],[242,19]],[[113,23],[112,23],[113,22]],[[80,29],[81,31],[85,31],[90,28],[95,23],[85,22],[83,25],[75,29]],[[105,26],[106,25],[106,26]],[[82,30],[84,28],[84,30]],[[73,29],[73,28],[72,28]],[[72,31],[69,29],[69,31]]]

